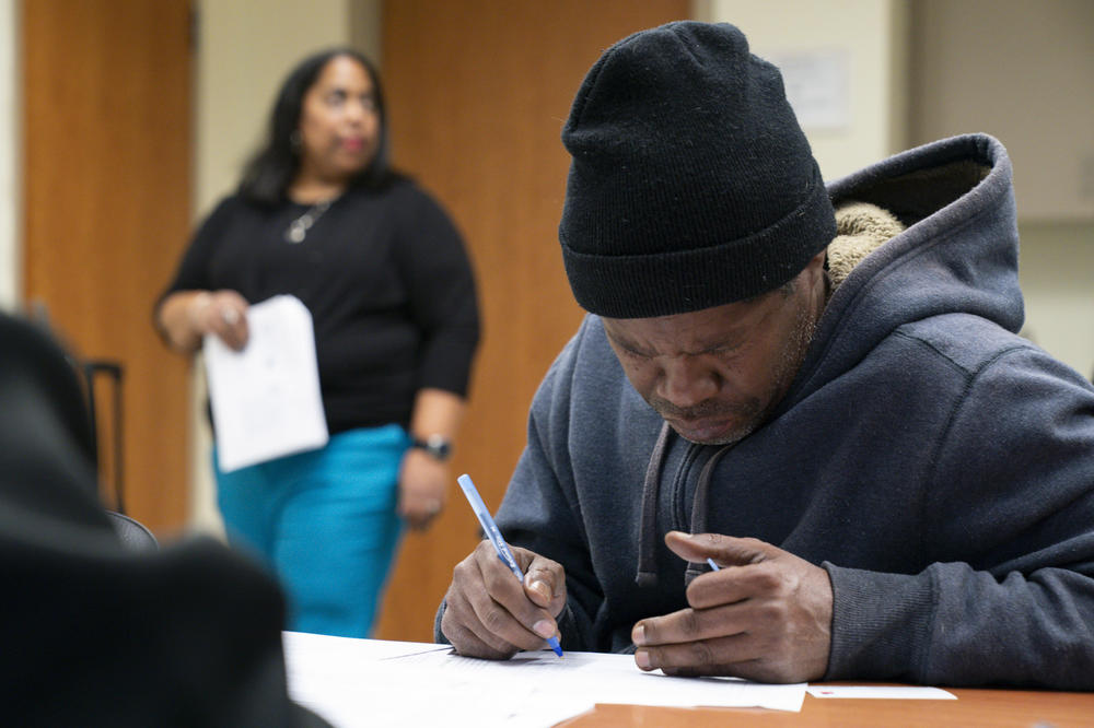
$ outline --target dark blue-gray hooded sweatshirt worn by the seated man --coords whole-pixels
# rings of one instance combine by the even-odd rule
[[[632,648],[635,622],[686,606],[664,533],[711,531],[827,570],[826,679],[1094,689],[1094,388],[1015,333],[1005,150],[956,137],[829,193],[903,232],[852,263],[734,447],[670,435],[650,469],[662,420],[595,316],[551,366],[498,524],[565,566],[562,646]]]

